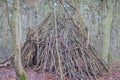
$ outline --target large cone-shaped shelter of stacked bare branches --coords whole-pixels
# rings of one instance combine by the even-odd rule
[[[108,72],[108,66],[90,46],[86,28],[65,14],[50,14],[40,26],[29,28],[22,63],[25,67],[35,66],[35,71],[75,80],[93,79]]]

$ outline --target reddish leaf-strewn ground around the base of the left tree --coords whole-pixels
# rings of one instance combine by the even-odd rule
[[[25,69],[27,73],[28,80],[60,80],[60,78],[55,74],[34,72],[32,69]],[[15,69],[9,68],[0,68],[0,80],[15,80],[16,74]],[[70,80],[70,79],[65,79]]]

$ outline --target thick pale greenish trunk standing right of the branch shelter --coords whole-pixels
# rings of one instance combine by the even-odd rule
[[[108,63],[108,54],[110,48],[110,33],[111,33],[111,24],[113,17],[113,3],[108,4],[108,0],[102,1],[102,11],[104,13],[103,18],[103,41],[102,41],[102,51],[101,58]]]

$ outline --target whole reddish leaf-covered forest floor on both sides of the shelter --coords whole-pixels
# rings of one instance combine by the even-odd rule
[[[119,62],[120,63],[120,62]],[[119,64],[118,62],[114,62],[112,65],[114,72],[108,73],[102,77],[97,78],[97,80],[120,80],[120,66],[115,66]],[[60,80],[58,76],[55,74],[49,73],[40,73],[34,72],[32,69],[25,69],[28,80]],[[12,67],[4,67],[0,68],[0,80],[15,80],[15,70]],[[65,78],[64,80],[70,80]]]

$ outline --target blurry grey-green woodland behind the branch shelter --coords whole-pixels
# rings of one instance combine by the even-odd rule
[[[76,1],[76,3],[73,3],[74,0],[68,1],[73,7],[71,8],[68,3],[65,5],[71,12],[74,11],[74,6],[77,4],[79,12],[72,12],[72,14],[80,14],[79,19],[85,23],[84,25],[88,29],[90,44],[94,46],[99,55],[101,55],[105,46],[104,42],[107,40],[109,46],[105,47],[105,50],[109,50],[108,60],[119,61],[120,0],[78,0],[79,2]],[[20,36],[22,45],[26,40],[28,28],[39,25],[52,11],[46,4],[47,0],[37,0],[37,3],[34,0],[20,0],[19,25],[21,30],[19,32],[22,34]],[[13,52],[10,20],[8,20],[8,17],[12,19],[12,7],[12,0],[0,0],[0,58],[7,58]],[[38,10],[37,18],[36,9]],[[106,38],[104,38],[105,34]]]

